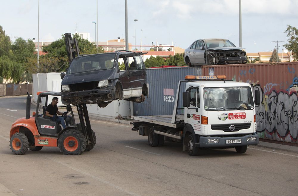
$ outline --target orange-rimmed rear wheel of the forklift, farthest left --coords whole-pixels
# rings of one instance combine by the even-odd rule
[[[24,155],[29,148],[28,138],[24,133],[15,133],[10,139],[10,149],[16,155]]]

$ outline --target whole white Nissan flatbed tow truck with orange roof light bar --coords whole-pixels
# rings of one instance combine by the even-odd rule
[[[181,84],[183,108],[179,108]],[[255,105],[260,92],[249,83],[226,80],[225,75],[186,76],[179,81],[172,115],[132,116],[132,130],[148,136],[150,146],[164,141],[182,142],[189,155],[200,149],[235,148],[245,153],[248,145],[257,145]],[[254,98],[255,97],[255,98]]]

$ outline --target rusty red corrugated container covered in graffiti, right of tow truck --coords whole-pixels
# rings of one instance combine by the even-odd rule
[[[202,75],[224,74],[228,80],[257,85],[260,138],[298,143],[298,62],[203,66]]]

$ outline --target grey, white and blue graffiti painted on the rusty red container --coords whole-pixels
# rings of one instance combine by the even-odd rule
[[[293,68],[288,69],[294,73]],[[254,73],[240,71],[240,76]],[[232,78],[236,81],[236,76]],[[239,80],[240,78],[239,78]],[[294,77],[292,84],[267,83],[261,87],[259,81],[243,81],[253,84],[260,91],[261,104],[256,107],[257,133],[260,138],[279,141],[298,142],[298,78]],[[277,91],[276,89],[284,89]]]

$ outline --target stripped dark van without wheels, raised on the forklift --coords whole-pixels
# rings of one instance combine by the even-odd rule
[[[63,104],[143,102],[149,87],[142,54],[116,51],[74,58],[61,82]]]

